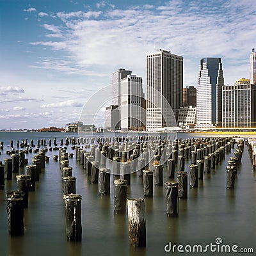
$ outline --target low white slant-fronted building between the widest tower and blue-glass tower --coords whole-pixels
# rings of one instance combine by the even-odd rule
[[[196,108],[193,106],[181,107],[178,116],[178,125],[195,125],[196,124]]]

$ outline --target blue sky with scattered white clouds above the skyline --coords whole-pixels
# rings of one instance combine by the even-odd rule
[[[255,28],[255,0],[0,0],[0,129],[79,120],[118,68],[145,83],[157,49],[183,56],[184,87],[204,57],[221,58],[234,84],[249,77]]]

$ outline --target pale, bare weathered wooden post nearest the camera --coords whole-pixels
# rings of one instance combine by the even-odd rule
[[[146,246],[145,202],[142,198],[127,199],[130,244]]]

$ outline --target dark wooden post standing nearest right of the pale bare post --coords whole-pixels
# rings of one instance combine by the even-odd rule
[[[178,182],[165,182],[166,186],[166,214],[168,217],[179,215],[179,184]]]

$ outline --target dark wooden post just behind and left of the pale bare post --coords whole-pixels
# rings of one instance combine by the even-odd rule
[[[127,180],[114,180],[114,213],[125,213],[127,198]]]

